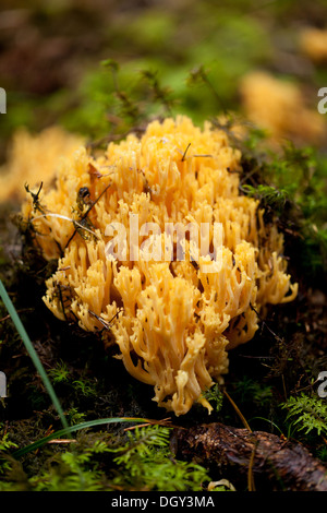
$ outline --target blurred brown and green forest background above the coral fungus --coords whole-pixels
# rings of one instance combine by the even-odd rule
[[[223,111],[249,116],[242,84],[257,70],[295,85],[299,110],[317,114],[317,92],[327,85],[326,20],[326,0],[3,0],[0,159],[22,126],[38,132],[59,123],[97,139],[152,115],[195,122]],[[267,95],[271,116],[274,92]],[[322,145],[320,134],[322,127],[314,135],[281,133]]]

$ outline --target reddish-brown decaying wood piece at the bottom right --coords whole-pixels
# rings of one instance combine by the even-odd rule
[[[237,490],[327,491],[327,468],[300,443],[263,431],[219,422],[177,428],[178,457],[210,468],[213,479],[227,478]]]

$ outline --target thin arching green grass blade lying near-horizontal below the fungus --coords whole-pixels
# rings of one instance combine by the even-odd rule
[[[56,431],[48,437],[41,438],[37,440],[34,443],[31,443],[29,445],[26,445],[25,448],[19,449],[15,451],[12,456],[15,458],[19,458],[23,456],[24,454],[27,454],[31,451],[35,451],[36,449],[39,449],[40,446],[45,445],[45,443],[48,443],[49,441],[53,439],[58,439],[60,437],[70,434],[74,431],[80,431],[81,429],[87,429],[87,428],[93,428],[95,426],[104,426],[106,423],[116,423],[116,422],[149,422],[154,423],[154,420],[149,419],[144,419],[144,418],[138,418],[138,417],[109,417],[105,419],[96,419],[96,420],[88,420],[86,422],[77,423],[75,426],[70,426],[64,429],[61,429],[59,431]]]

